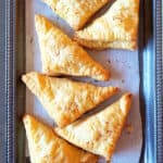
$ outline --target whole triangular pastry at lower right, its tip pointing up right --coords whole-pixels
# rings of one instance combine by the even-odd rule
[[[103,111],[55,131],[73,145],[111,160],[130,103],[131,95],[126,93]]]

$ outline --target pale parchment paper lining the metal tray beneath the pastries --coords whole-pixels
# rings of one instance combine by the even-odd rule
[[[41,72],[40,51],[34,23],[36,13],[47,16],[67,35],[71,36],[73,34],[73,30],[70,29],[68,25],[59,18],[50,8],[40,0],[26,0],[26,72]],[[137,163],[139,161],[142,143],[141,118],[139,113],[138,52],[125,50],[89,50],[89,53],[95,60],[111,70],[112,79],[110,82],[95,82],[90,78],[85,78],[84,80],[101,86],[118,86],[122,89],[122,92],[130,91],[134,95],[133,106],[127,120],[127,123],[133,126],[133,131],[131,134],[128,134],[126,129],[124,129],[117,142],[112,162]],[[105,103],[109,104],[111,101],[113,101],[113,99],[108,100]],[[102,104],[100,108],[103,109]],[[26,91],[26,112],[38,116],[43,122],[53,126],[53,121],[46,113],[40,102],[28,90]]]

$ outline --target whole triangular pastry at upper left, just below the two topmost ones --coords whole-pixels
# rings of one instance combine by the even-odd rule
[[[49,75],[88,76],[108,80],[110,72],[93,61],[89,54],[72,41],[57,26],[41,15],[35,16],[42,71]]]

